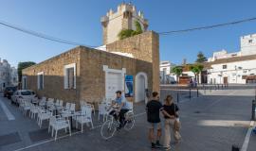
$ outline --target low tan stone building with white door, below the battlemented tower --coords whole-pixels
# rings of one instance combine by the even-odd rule
[[[22,81],[39,96],[77,104],[113,99],[118,90],[147,101],[146,89],[159,91],[159,37],[147,31],[98,49],[78,46],[23,70]]]

